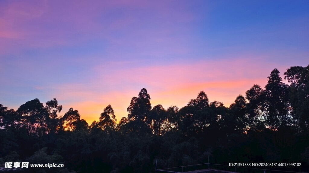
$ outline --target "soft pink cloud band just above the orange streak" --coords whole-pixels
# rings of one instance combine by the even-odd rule
[[[94,74],[97,74],[95,78],[100,78],[101,81],[112,81],[119,85],[124,81],[142,82],[161,89],[205,81],[241,80],[261,78],[262,76],[267,79],[270,71],[273,70],[274,66],[277,66],[274,63],[265,65],[262,60],[265,59],[263,57],[243,57],[234,60],[200,60],[137,68],[126,67],[122,70],[119,70],[121,66],[115,65],[113,67],[113,64],[111,64],[108,69],[118,69],[114,71],[106,70],[106,65],[99,65],[95,67]]]

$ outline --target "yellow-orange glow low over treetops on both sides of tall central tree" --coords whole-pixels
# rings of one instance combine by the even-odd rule
[[[266,80],[192,83],[178,87],[170,86],[165,91],[152,91],[150,89],[148,90],[148,94],[150,94],[152,106],[161,104],[165,109],[174,105],[181,108],[184,107],[190,99],[196,98],[197,94],[203,90],[208,95],[210,102],[214,100],[220,101],[223,102],[226,107],[229,107],[239,94],[245,95],[245,92],[256,83],[266,83]],[[61,96],[59,95],[58,100],[59,103],[61,103],[61,101],[65,101],[66,98],[72,98],[72,95],[79,99],[87,100],[62,104],[64,107],[62,114],[68,111],[70,107],[73,107],[74,110],[79,111],[81,118],[86,119],[87,123],[90,125],[94,120],[99,120],[100,114],[108,104],[112,105],[118,121],[122,117],[126,117],[128,114],[126,109],[132,97],[137,96],[138,92],[139,91],[127,91],[122,93],[111,92],[106,95],[96,95],[95,93],[87,92],[81,92],[76,95],[77,93],[75,92],[68,92],[63,93]]]

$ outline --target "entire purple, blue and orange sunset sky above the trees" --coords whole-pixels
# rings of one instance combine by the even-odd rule
[[[229,107],[270,72],[309,64],[309,1],[0,0],[0,103],[56,98],[91,124],[184,107],[205,91]]]

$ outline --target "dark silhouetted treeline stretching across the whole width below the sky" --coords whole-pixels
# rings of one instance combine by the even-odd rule
[[[143,88],[116,123],[108,105],[90,126],[77,110],[63,116],[57,99],[34,99],[16,111],[0,104],[0,164],[64,164],[22,172],[155,172],[197,163],[302,163],[309,170],[309,65],[274,69],[230,107],[201,91],[187,106],[150,104]],[[2,165],[3,167],[3,165]],[[274,168],[272,168],[274,169]]]

